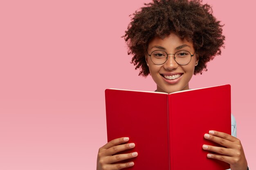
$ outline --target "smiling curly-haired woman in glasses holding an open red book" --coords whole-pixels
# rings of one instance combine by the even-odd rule
[[[141,70],[141,76],[152,76],[157,92],[188,90],[192,75],[207,71],[207,62],[221,54],[225,36],[220,21],[212,15],[211,7],[201,4],[200,0],[153,0],[145,5],[133,14],[124,35],[135,69]],[[233,136],[214,130],[204,135],[205,139],[223,147],[203,145],[202,148],[215,152],[207,157],[229,163],[231,170],[247,170],[243,147],[234,137],[234,117],[231,125]],[[114,155],[135,147],[133,143],[123,144],[128,140],[128,137],[121,137],[102,146],[97,170],[133,166],[130,158],[137,157],[137,152]],[[116,163],[126,159],[129,159],[127,163]]]

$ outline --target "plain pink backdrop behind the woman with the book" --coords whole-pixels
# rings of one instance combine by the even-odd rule
[[[0,2],[1,170],[96,168],[107,140],[104,90],[156,88],[137,76],[121,38],[144,2]],[[238,138],[255,169],[255,2],[204,2],[225,24],[226,48],[190,88],[231,84]]]

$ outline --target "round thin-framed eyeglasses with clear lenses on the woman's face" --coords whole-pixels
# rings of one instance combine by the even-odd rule
[[[174,55],[174,60],[177,62],[177,64],[180,64],[182,66],[189,64],[191,61],[191,57],[194,56],[189,51],[177,51],[175,54],[167,54],[165,51],[162,50],[155,50],[151,54],[148,54],[150,56],[150,60],[156,64],[156,65],[162,65],[164,64],[167,59],[168,55]]]

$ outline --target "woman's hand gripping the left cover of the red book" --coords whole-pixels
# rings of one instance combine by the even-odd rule
[[[117,152],[135,147],[134,143],[122,144],[127,141],[129,141],[128,137],[121,137],[114,139],[99,148],[97,157],[97,170],[119,170],[133,166],[134,162],[115,163],[118,161],[137,157],[137,152],[114,155]]]

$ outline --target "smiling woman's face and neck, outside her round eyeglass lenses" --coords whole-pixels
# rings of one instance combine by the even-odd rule
[[[177,51],[189,51],[192,55],[195,49],[191,42],[179,38],[176,34],[171,33],[163,40],[161,38],[153,38],[148,44],[148,54],[155,50],[165,51],[167,54],[175,54]],[[189,90],[189,81],[193,76],[195,65],[198,60],[196,55],[191,57],[191,61],[187,65],[179,65],[174,60],[174,55],[168,55],[168,60],[162,65],[156,65],[150,60],[150,56],[146,55],[150,75],[157,84],[158,92],[173,93],[176,91]]]

